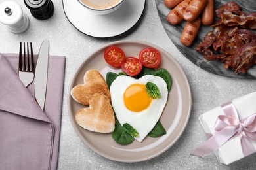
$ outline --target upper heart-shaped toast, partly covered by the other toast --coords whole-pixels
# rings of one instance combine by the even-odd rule
[[[106,95],[111,102],[108,85],[98,71],[94,69],[87,71],[85,76],[83,76],[83,82],[84,84],[75,86],[70,92],[70,95],[75,101],[83,105],[89,105],[93,94],[102,93]]]

